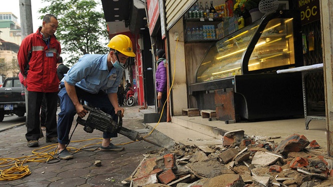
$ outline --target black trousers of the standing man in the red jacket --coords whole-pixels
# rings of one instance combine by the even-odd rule
[[[27,140],[38,140],[41,137],[40,110],[44,94],[46,98],[46,137],[51,138],[58,136],[56,116],[58,92],[28,92]]]

